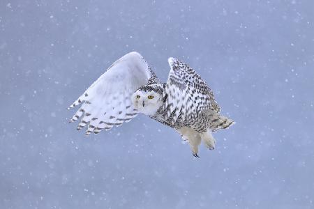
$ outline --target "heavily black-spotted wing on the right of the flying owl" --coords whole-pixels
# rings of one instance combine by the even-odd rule
[[[165,85],[167,99],[163,107],[167,113],[166,121],[174,125],[190,121],[204,109],[220,111],[213,92],[200,75],[178,59],[170,57],[168,63],[171,69]]]

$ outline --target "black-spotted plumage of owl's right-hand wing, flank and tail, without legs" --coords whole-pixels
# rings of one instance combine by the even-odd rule
[[[220,107],[200,75],[178,59],[170,58],[169,63],[170,75],[163,92],[167,100],[151,118],[170,127],[186,126],[197,132],[204,132],[209,127],[216,131],[225,128],[223,125],[232,124],[221,122]]]

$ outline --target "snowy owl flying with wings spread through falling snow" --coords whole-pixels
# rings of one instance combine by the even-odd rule
[[[70,122],[82,117],[77,130],[87,126],[87,135],[98,134],[142,113],[177,130],[194,157],[201,141],[214,149],[211,132],[234,121],[219,114],[214,94],[200,75],[179,59],[170,57],[168,63],[168,80],[161,83],[139,53],[122,56],[70,105],[82,104]]]

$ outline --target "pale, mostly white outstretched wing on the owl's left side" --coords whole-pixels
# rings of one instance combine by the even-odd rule
[[[82,104],[70,122],[82,118],[77,130],[87,126],[87,135],[128,122],[137,115],[131,101],[133,93],[148,82],[156,81],[158,78],[143,57],[130,52],[114,62],[70,105],[68,109]]]

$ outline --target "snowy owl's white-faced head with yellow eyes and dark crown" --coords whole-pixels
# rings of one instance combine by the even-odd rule
[[[151,84],[137,89],[132,95],[135,109],[147,116],[154,116],[163,104],[163,85]]]

